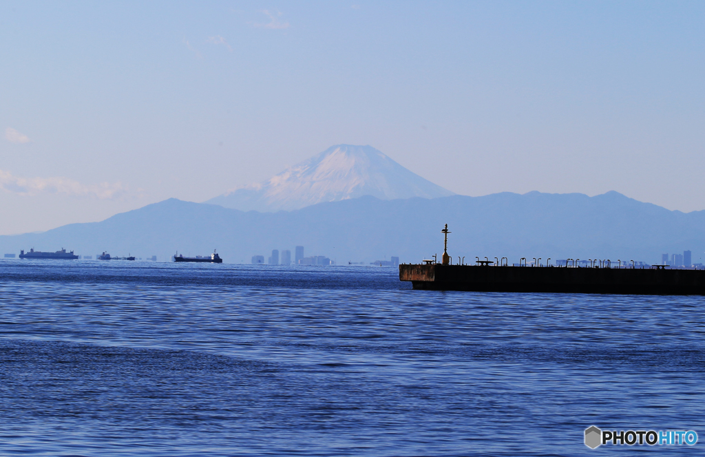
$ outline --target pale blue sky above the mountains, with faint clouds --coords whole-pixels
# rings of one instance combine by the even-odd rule
[[[705,209],[705,4],[0,4],[0,233],[204,201],[338,144],[464,195]]]

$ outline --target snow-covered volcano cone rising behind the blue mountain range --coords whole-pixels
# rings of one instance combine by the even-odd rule
[[[453,195],[372,146],[336,145],[264,183],[236,188],[207,203],[249,211],[300,209],[372,195],[381,200]]]

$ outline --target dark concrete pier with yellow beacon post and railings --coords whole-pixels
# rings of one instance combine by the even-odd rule
[[[667,265],[635,268],[634,265],[591,262],[579,267],[509,266],[507,262],[477,260],[474,265],[451,264],[448,224],[441,263],[400,264],[400,281],[413,288],[433,291],[615,293],[633,295],[705,295],[705,270],[666,269]],[[504,258],[504,257],[503,257]],[[523,259],[522,259],[523,260]]]

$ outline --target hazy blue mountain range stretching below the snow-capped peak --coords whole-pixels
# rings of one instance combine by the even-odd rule
[[[661,253],[705,252],[705,211],[682,213],[632,200],[616,192],[435,199],[379,200],[366,196],[326,202],[291,212],[242,212],[218,205],[170,199],[102,222],[71,224],[44,233],[1,236],[0,252],[67,248],[80,255],[159,256],[176,250],[207,255],[217,248],[228,263],[250,262],[272,249],[326,255],[338,262],[420,262],[443,252],[443,224],[452,232],[448,251],[458,256],[566,257],[660,262]]]

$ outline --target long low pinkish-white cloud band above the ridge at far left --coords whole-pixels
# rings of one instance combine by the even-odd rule
[[[54,178],[20,178],[8,171],[0,170],[0,188],[18,195],[40,195],[59,193],[73,197],[94,197],[100,200],[111,200],[125,194],[126,188],[119,182],[85,185],[73,179]]]

